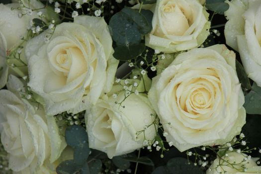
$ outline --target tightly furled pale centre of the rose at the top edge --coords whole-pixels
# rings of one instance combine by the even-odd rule
[[[170,35],[182,36],[189,28],[188,19],[178,5],[166,4],[162,19],[163,26]]]

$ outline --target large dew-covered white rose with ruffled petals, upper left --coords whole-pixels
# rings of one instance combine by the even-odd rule
[[[49,43],[45,35],[28,41],[25,54],[28,86],[43,97],[47,114],[80,112],[110,90],[118,61],[103,18],[78,16],[58,25]]]

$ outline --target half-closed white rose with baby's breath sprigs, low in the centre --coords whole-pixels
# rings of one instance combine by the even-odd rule
[[[110,159],[142,148],[145,139],[153,141],[158,128],[152,124],[156,115],[146,95],[132,93],[124,100],[121,90],[113,86],[111,92],[118,93],[116,98],[104,95],[86,112],[89,147],[107,153]],[[145,137],[136,134],[141,130],[145,130]]]

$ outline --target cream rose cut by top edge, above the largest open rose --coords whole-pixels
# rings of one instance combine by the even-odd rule
[[[198,47],[209,33],[208,15],[197,0],[157,0],[145,43],[165,53]]]

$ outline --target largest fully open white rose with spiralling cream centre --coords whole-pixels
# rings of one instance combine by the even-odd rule
[[[224,144],[246,122],[235,53],[224,45],[179,54],[153,78],[149,99],[169,133],[167,141],[181,152]]]

